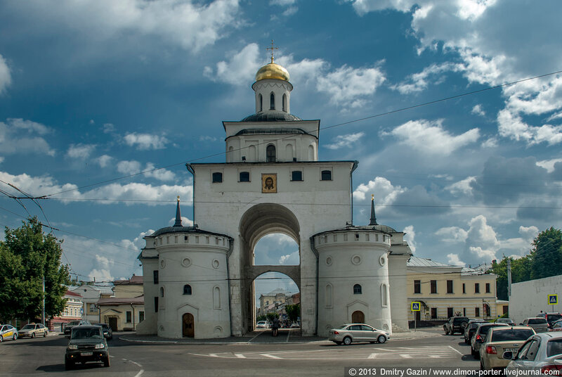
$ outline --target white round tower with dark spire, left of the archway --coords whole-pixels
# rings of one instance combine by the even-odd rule
[[[137,332],[163,338],[230,336],[227,254],[233,239],[196,224],[183,226],[178,196],[174,225],[145,241],[139,256],[146,277],[145,321]]]

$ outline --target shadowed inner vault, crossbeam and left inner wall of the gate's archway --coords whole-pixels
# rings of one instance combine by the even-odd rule
[[[242,305],[242,327],[244,331],[254,329],[256,300],[254,279],[266,272],[280,272],[289,276],[301,291],[301,238],[300,226],[296,216],[282,205],[261,203],[247,210],[240,219],[240,297]],[[294,239],[299,245],[299,264],[254,265],[254,248],[256,243],[267,234],[281,233]]]

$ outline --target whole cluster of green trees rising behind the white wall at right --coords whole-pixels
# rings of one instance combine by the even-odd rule
[[[511,260],[511,283],[531,279],[542,279],[561,274],[562,271],[562,231],[551,227],[542,231],[532,241],[532,250],[521,258],[502,257],[492,262],[490,272],[497,274],[497,298],[507,297],[507,260]]]

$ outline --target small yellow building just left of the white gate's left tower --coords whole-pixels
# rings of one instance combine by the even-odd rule
[[[143,276],[113,282],[113,298],[100,298],[100,322],[109,324],[113,331],[135,331],[145,319]]]

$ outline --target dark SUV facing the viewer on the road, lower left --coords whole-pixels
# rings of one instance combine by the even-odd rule
[[[110,352],[100,326],[74,326],[66,347],[65,369],[75,363],[103,362],[110,366]]]

